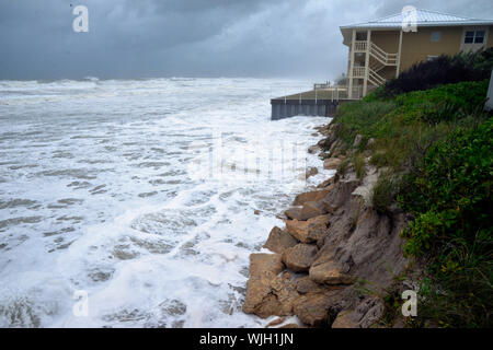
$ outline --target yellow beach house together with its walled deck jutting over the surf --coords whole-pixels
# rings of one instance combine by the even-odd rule
[[[346,79],[271,100],[272,119],[333,115],[340,103],[363,98],[414,63],[443,54],[493,47],[493,20],[409,9],[341,26],[343,44],[348,48]]]

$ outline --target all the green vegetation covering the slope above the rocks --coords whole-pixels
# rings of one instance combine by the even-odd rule
[[[424,272],[408,326],[491,326],[493,120],[483,106],[492,68],[492,49],[440,56],[342,105],[333,121],[357,176],[365,159],[380,170],[374,209],[411,218],[404,255]]]

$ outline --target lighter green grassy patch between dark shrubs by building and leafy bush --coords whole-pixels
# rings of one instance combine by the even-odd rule
[[[336,136],[351,145],[356,135],[376,139],[370,163],[395,171],[414,166],[427,149],[465,120],[480,116],[488,81],[461,82],[402,94],[392,101],[342,105]],[[472,117],[471,117],[472,115]]]

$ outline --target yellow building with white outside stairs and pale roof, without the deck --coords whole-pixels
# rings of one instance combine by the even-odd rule
[[[341,26],[349,49],[347,97],[360,98],[412,65],[493,46],[493,21],[427,10]]]

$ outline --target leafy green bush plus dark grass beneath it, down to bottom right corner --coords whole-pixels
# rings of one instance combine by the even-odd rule
[[[491,326],[493,119],[434,144],[399,195],[416,219],[404,252],[427,256],[432,279],[422,318],[442,326]]]

